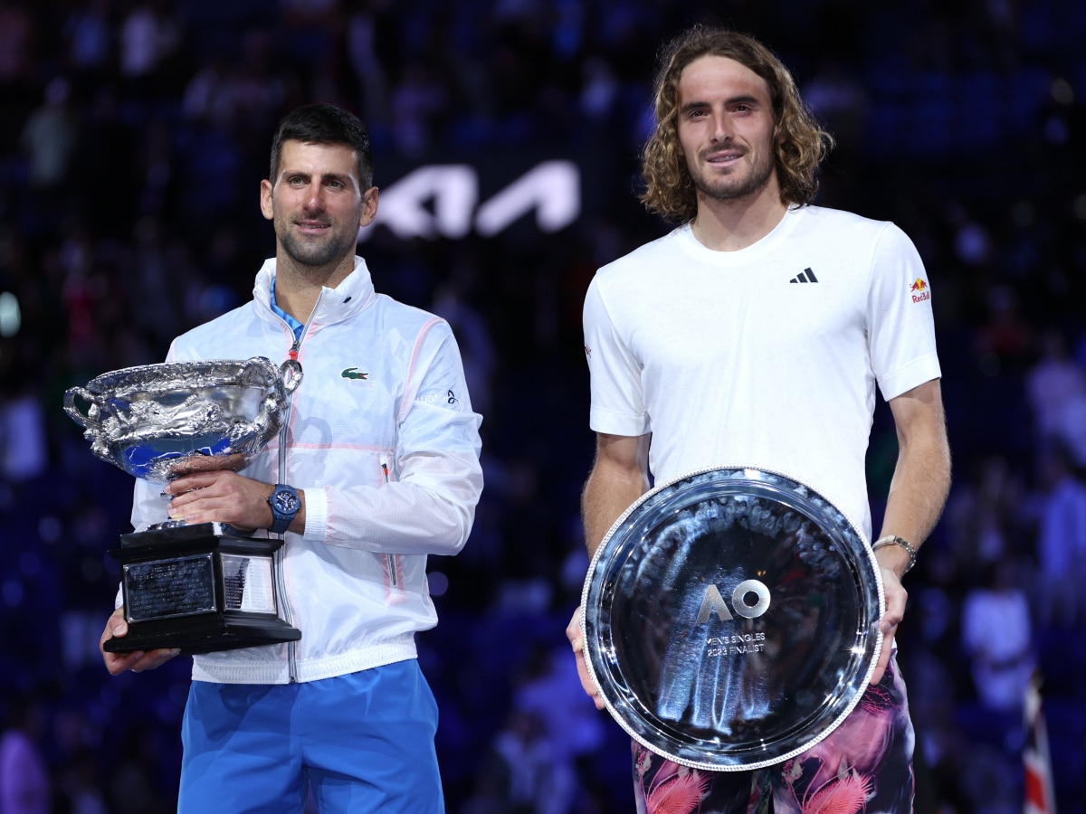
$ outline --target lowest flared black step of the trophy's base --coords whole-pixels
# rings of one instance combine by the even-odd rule
[[[111,653],[176,648],[194,656],[298,641],[300,638],[302,632],[281,619],[253,619],[225,613],[205,622],[186,620],[184,625],[130,623],[127,636],[108,639],[102,648]]]

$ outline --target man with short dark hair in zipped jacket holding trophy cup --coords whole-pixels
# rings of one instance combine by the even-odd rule
[[[139,480],[137,530],[167,514],[285,534],[296,643],[193,658],[178,810],[444,810],[437,705],[415,633],[437,623],[427,555],[456,554],[482,488],[480,417],[449,325],[374,291],[355,256],[377,213],[362,123],[307,105],[280,124],[261,211],[276,256],[253,300],[177,338],[169,361],[292,358],[304,378],[245,469]],[[274,493],[291,500],[276,506]],[[127,633],[123,609],[102,641]],[[111,653],[114,675],[175,650]]]

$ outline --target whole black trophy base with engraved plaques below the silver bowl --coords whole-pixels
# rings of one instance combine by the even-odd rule
[[[245,537],[223,523],[125,534],[121,563],[128,635],[108,652],[179,649],[207,653],[285,641],[302,632],[279,618],[278,538]]]

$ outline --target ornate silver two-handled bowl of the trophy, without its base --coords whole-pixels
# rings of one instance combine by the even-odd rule
[[[248,466],[279,431],[301,380],[296,361],[277,367],[263,356],[143,365],[68,389],[64,411],[96,456],[136,478],[168,481]]]

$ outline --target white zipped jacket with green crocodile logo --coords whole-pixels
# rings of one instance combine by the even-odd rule
[[[270,307],[275,269],[266,260],[252,302],[177,338],[167,360],[286,360],[294,335]],[[356,257],[296,349],[287,420],[242,474],[305,492],[305,533],[277,555],[281,615],[302,639],[195,656],[195,679],[310,682],[415,658],[415,632],[437,623],[427,555],[456,554],[471,530],[481,417],[449,323],[376,293]],[[137,530],[166,519],[161,491],[137,481]]]

